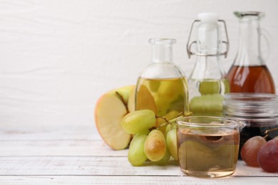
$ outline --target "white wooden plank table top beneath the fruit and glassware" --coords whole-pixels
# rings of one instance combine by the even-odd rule
[[[0,184],[278,184],[239,162],[221,179],[186,176],[177,162],[135,167],[128,150],[103,143],[94,125],[5,125],[0,128]]]

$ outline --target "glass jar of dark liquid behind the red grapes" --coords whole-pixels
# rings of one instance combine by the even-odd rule
[[[278,96],[268,93],[228,93],[223,101],[223,115],[245,123],[240,132],[240,149],[254,136],[267,140],[278,136]]]

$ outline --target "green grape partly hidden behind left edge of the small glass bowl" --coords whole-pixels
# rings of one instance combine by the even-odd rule
[[[171,129],[167,133],[166,143],[170,155],[177,160],[177,132],[176,129]]]

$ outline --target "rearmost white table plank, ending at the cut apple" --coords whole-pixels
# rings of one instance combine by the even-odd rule
[[[76,123],[76,125],[9,125],[1,122],[0,141],[2,140],[61,140],[61,139],[101,139],[95,124],[86,125]]]

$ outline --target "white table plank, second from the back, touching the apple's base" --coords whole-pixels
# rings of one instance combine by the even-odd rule
[[[127,156],[128,150],[110,149],[102,140],[0,141],[0,156]]]

